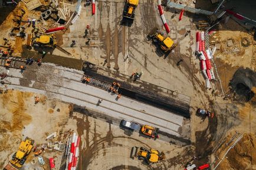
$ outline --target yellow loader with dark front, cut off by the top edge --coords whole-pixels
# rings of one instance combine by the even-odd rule
[[[135,9],[139,4],[139,0],[126,0],[123,9],[123,22],[133,24]]]

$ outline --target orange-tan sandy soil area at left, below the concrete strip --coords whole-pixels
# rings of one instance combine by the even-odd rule
[[[26,136],[35,145],[44,144],[52,132],[59,132],[68,120],[67,104],[55,100],[34,103],[35,94],[9,90],[0,97],[0,167],[3,168]],[[57,111],[58,110],[58,111]],[[47,122],[47,123],[45,123]]]

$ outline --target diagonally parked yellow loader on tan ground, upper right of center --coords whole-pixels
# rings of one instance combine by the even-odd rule
[[[163,52],[170,52],[177,46],[169,36],[163,35],[158,28],[152,29],[148,36],[153,42],[159,44]]]

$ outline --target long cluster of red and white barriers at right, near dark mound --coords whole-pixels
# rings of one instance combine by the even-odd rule
[[[212,59],[212,52],[209,49],[205,49],[204,31],[196,32],[196,54],[200,59],[201,70],[205,76],[206,88],[210,88],[210,81],[215,79],[215,75],[210,61]]]

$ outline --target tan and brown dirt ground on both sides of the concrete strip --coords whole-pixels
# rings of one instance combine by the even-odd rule
[[[90,114],[73,112],[70,104],[47,99],[47,96],[40,96],[41,102],[34,104],[35,94],[9,90],[8,93],[0,95],[0,162],[2,162],[0,168],[11,159],[21,139],[25,136],[35,139],[36,145],[41,145],[47,143],[45,137],[51,132],[60,132],[61,129],[68,132],[71,129],[82,138],[78,169],[180,169],[187,162],[194,162],[196,165],[206,163],[216,165],[217,156],[224,154],[223,151],[227,148],[225,144],[231,140],[236,131],[244,134],[244,137],[231,149],[218,169],[256,169],[255,96],[251,101],[241,102],[229,90],[229,81],[238,68],[249,68],[255,72],[255,41],[251,32],[229,19],[227,24],[219,26],[218,31],[211,35],[211,46],[215,44],[221,46],[216,50],[214,60],[224,94],[231,94],[231,99],[224,99],[224,96],[221,96],[220,86],[218,86],[219,95],[212,93],[212,89],[205,89],[204,78],[199,72],[199,61],[192,55],[196,30],[188,16],[184,16],[182,22],[175,20],[178,16],[169,19],[173,30],[170,36],[183,45],[178,46],[171,56],[164,59],[157,55],[156,47],[145,39],[150,26],[161,24],[157,10],[153,7],[156,5],[155,2],[143,1],[138,8],[140,12],[137,16],[142,21],[146,21],[147,26],[142,25],[141,20],[138,19],[135,22],[136,26],[133,25],[129,29],[119,25],[122,3],[123,1],[99,2],[97,16],[89,16],[90,8],[83,6],[84,12],[81,14],[81,19],[77,20],[79,27],[73,25],[67,32],[68,34],[58,35],[63,36],[58,42],[72,54],[70,58],[83,59],[99,65],[107,59],[107,64],[104,66],[110,69],[127,75],[133,71],[144,71],[145,75],[142,77],[144,81],[152,82],[154,78],[157,79],[153,82],[156,85],[191,96],[192,145],[181,147],[164,141],[146,140],[136,133],[127,135],[129,132],[110,122],[92,118],[88,116]],[[24,5],[19,7],[25,8]],[[2,22],[0,30],[10,30],[15,26],[14,22],[10,21],[15,15],[20,15],[19,7]],[[38,14],[38,12],[31,12],[28,16],[26,13],[24,19],[38,16]],[[170,18],[172,12],[166,11],[165,15]],[[155,22],[147,21],[149,17],[157,19]],[[89,34],[90,46],[84,44],[86,39],[83,38],[87,23],[92,23]],[[238,29],[228,31],[232,27]],[[186,30],[190,28],[192,28],[191,35],[185,37]],[[27,30],[31,31],[31,29]],[[9,37],[8,33],[8,31],[1,31],[0,37],[11,39],[15,46],[14,54],[20,54],[22,45],[26,43],[25,39]],[[129,39],[127,39],[128,36]],[[2,38],[1,44],[4,43]],[[250,45],[242,46],[242,38],[248,39]],[[71,39],[76,39],[78,42],[74,48],[70,48]],[[227,45],[230,40],[232,46]],[[127,43],[130,47],[127,47]],[[60,51],[56,53],[64,55]],[[129,54],[129,59],[124,61],[127,54]],[[38,52],[25,51],[23,55],[24,57],[33,56],[38,55]],[[52,56],[54,55],[48,55],[48,58]],[[185,62],[177,67],[176,62],[180,58],[183,58]],[[51,62],[54,59],[56,58],[47,61]],[[77,67],[79,68],[80,65]],[[252,91],[255,92],[255,88],[252,88]],[[198,107],[213,111],[215,117],[209,119],[196,115]],[[130,159],[130,149],[134,145],[165,150],[166,160],[147,166],[137,159]],[[61,154],[45,151],[43,155],[45,160],[50,156],[55,156],[58,160],[57,164],[60,165]],[[193,159],[193,156],[198,158]],[[29,166],[32,160],[34,160],[33,156],[28,160]],[[49,169],[48,164],[44,168]]]

